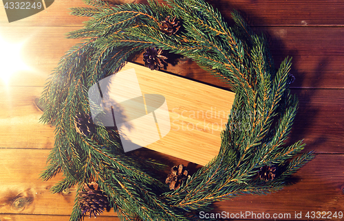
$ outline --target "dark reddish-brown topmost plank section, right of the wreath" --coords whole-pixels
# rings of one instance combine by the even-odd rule
[[[257,26],[318,26],[343,25],[343,8],[341,1],[330,0],[285,0],[285,1],[208,1],[230,18],[232,9],[239,10],[249,21]]]

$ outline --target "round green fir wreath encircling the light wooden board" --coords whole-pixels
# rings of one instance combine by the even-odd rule
[[[276,70],[264,36],[254,34],[236,11],[235,25],[229,27],[202,0],[166,2],[111,7],[104,1],[85,0],[92,7],[72,8],[72,14],[91,19],[68,37],[86,40],[61,59],[41,97],[45,107],[41,121],[56,127],[54,148],[41,178],[63,172],[63,180],[52,187],[54,193],[77,185],[70,220],[80,220],[87,212],[98,215],[107,201],[123,220],[199,220],[197,211],[209,209],[212,202],[281,189],[314,157],[312,152],[295,156],[305,146],[302,141],[284,143],[298,106],[288,86],[290,59]],[[79,128],[84,132],[74,126],[75,116],[90,112],[89,86],[147,48],[192,58],[228,81],[236,94],[232,113],[252,116],[231,114],[219,154],[174,191],[152,173],[162,164],[127,156],[116,131],[89,128],[88,120],[84,120],[87,127]],[[240,130],[243,123],[252,129]]]

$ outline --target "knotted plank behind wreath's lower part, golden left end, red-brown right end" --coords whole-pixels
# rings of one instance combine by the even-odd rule
[[[149,150],[151,152],[151,150]],[[140,150],[137,150],[140,152]],[[48,190],[61,176],[52,178],[51,181],[43,182],[38,179],[39,173],[45,166],[48,150],[11,150],[0,149],[0,160],[3,163],[2,187],[0,194],[0,213],[25,213],[44,215],[68,215],[72,210],[74,202],[72,194],[51,194]],[[140,153],[138,153],[140,154]],[[193,163],[176,159],[165,154],[157,153],[164,163],[178,165],[182,163],[192,169],[193,172],[199,168]],[[150,157],[154,154],[149,153]],[[161,158],[160,158],[161,159]],[[21,162],[21,163],[18,163]],[[344,211],[343,190],[343,154],[319,154],[316,159],[305,165],[295,174],[295,184],[286,187],[282,191],[267,196],[241,196],[215,203],[217,209],[214,212],[226,211],[238,213],[240,211],[251,211],[254,213],[292,213],[295,211]],[[166,170],[166,173],[168,170]],[[326,193],[326,194],[323,194]],[[28,203],[24,208],[11,208],[12,202],[21,196]],[[21,211],[19,211],[21,209]],[[112,211],[105,213],[105,216]],[[8,217],[1,215],[0,217]],[[15,216],[14,216],[15,217]],[[37,216],[39,219],[41,216]],[[100,216],[99,218],[101,218]],[[56,219],[57,220],[57,219]],[[62,220],[62,219],[61,219]],[[302,220],[306,220],[303,218]],[[340,219],[333,219],[340,220]]]

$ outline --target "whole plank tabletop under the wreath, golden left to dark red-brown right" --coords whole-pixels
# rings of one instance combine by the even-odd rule
[[[138,0],[144,2],[144,0]],[[138,2],[136,1],[136,2]],[[288,141],[304,139],[305,151],[316,159],[295,174],[295,184],[267,196],[241,196],[215,203],[215,212],[294,213],[344,212],[344,2],[341,0],[214,0],[208,1],[230,22],[239,10],[256,32],[268,36],[276,65],[292,56],[292,93],[299,96],[299,113]],[[81,0],[57,0],[50,8],[8,23],[0,3],[0,36],[8,41],[28,39],[23,59],[33,68],[0,84],[0,220],[69,220],[75,189],[51,194],[57,183],[39,180],[54,142],[54,128],[38,123],[34,105],[43,84],[61,56],[78,40],[65,33],[79,29],[85,18],[70,16],[67,8]],[[1,49],[0,49],[1,50]],[[1,52],[0,52],[1,53]],[[142,56],[135,62],[142,63]],[[0,67],[1,71],[1,67]],[[226,87],[190,60],[169,65],[167,71]],[[169,166],[183,163],[192,171],[199,165],[142,148],[133,154],[163,159]],[[324,213],[322,213],[324,214]],[[109,212],[97,220],[119,220]],[[283,220],[283,219],[279,219]],[[324,220],[312,219],[309,220]],[[341,220],[332,218],[332,220]]]

